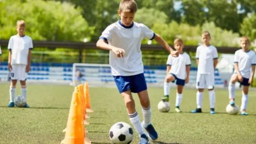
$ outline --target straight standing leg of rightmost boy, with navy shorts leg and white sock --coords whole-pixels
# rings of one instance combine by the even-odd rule
[[[247,110],[247,105],[248,105],[248,91],[249,91],[249,86],[250,84],[248,83],[249,79],[248,78],[243,78],[243,82],[242,84],[242,103],[241,103],[241,115],[248,115],[248,113],[246,112]]]

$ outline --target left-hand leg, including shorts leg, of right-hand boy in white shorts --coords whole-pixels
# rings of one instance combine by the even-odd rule
[[[198,91],[196,92],[197,108],[191,111],[191,113],[202,113],[202,101],[204,97],[203,92],[206,85],[205,81],[206,81],[205,74],[197,74],[197,77],[196,77],[196,89],[198,89]]]

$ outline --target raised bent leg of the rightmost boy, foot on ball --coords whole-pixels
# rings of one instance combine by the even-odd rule
[[[229,93],[229,96],[228,98],[230,99],[230,105],[234,106],[235,105],[235,98],[236,98],[236,95],[235,95],[235,84],[236,82],[238,81],[238,76],[237,74],[233,74],[230,78],[230,82],[228,84],[228,93]]]

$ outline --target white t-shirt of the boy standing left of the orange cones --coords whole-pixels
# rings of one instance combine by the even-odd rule
[[[33,49],[32,39],[24,35],[13,35],[10,37],[8,49],[12,51],[11,64],[28,64],[28,51]]]

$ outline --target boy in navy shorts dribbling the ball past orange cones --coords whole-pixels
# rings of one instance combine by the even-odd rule
[[[173,51],[159,35],[155,34],[146,25],[134,22],[136,11],[137,4],[134,0],[122,0],[118,10],[120,20],[106,27],[96,45],[100,49],[110,51],[111,73],[119,92],[124,98],[130,121],[140,136],[139,144],[148,144],[148,136],[152,140],[156,140],[158,134],[150,122],[150,100],[144,77],[140,50],[141,41],[143,38],[155,39],[167,51],[171,51],[170,53],[173,56],[178,56],[178,52]],[[138,93],[144,118],[142,123],[140,123],[140,118],[136,112],[132,93]]]

